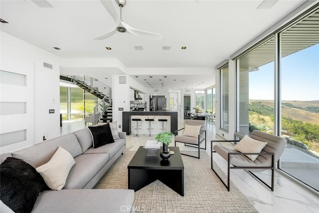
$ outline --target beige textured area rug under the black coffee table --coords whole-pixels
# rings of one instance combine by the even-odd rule
[[[188,151],[188,154],[191,152]],[[128,189],[127,166],[134,154],[134,151],[125,151],[124,155],[119,157],[94,188]],[[227,192],[211,170],[210,157],[206,152],[200,153],[200,160],[188,156],[182,156],[182,160],[184,163],[184,197],[160,181],[155,181],[135,192],[135,212],[257,213],[257,210],[234,184],[231,183],[230,192]]]

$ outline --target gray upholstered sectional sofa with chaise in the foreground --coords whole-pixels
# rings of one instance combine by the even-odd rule
[[[126,133],[119,132],[120,139],[98,148],[92,147],[88,128],[54,138],[32,147],[5,153],[7,157],[21,159],[37,168],[47,163],[60,146],[74,158],[61,191],[43,191],[37,198],[32,212],[130,212],[133,210],[134,191],[121,189],[92,189],[105,172],[121,156],[126,148]]]

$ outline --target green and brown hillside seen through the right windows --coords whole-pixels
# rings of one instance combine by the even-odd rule
[[[274,101],[249,100],[249,129],[273,133]],[[319,100],[282,101],[282,136],[319,153]]]

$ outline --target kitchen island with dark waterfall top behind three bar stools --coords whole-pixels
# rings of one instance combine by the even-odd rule
[[[159,110],[159,111],[126,111],[122,114],[122,131],[126,132],[127,135],[135,134],[136,121],[132,121],[132,118],[141,118],[139,122],[139,134],[148,134],[148,122],[145,121],[146,118],[154,119],[152,122],[152,135],[160,132],[161,122],[158,119],[167,119],[164,124],[165,131],[171,131],[174,133],[177,130],[177,112],[169,110]]]

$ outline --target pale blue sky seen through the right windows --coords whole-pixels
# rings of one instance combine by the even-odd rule
[[[319,44],[282,58],[281,89],[282,100],[319,100]],[[249,73],[249,99],[274,100],[274,62]]]

